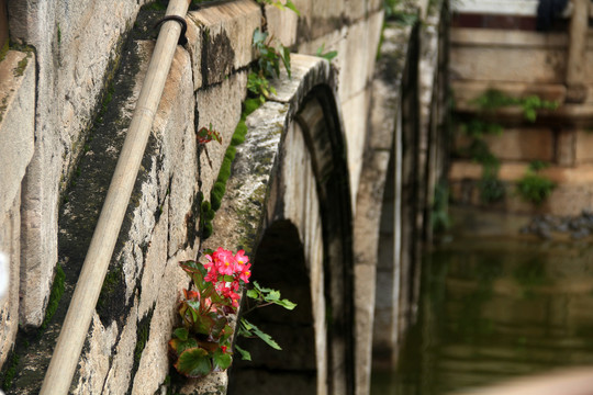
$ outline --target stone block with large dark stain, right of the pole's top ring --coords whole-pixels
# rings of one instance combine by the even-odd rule
[[[194,90],[222,82],[232,71],[254,60],[254,31],[261,24],[261,10],[254,1],[205,7],[189,12],[188,20]]]

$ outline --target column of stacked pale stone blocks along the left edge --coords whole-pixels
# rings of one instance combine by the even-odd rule
[[[9,270],[0,274],[8,283],[0,300],[0,366],[13,347],[24,294],[20,283],[27,275],[21,273],[21,182],[33,156],[34,122],[35,56],[9,50],[0,61],[0,252]]]

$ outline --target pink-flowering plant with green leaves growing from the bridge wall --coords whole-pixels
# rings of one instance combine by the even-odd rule
[[[233,323],[239,306],[240,291],[251,275],[249,258],[245,251],[232,251],[219,247],[206,251],[206,263],[193,260],[179,264],[192,279],[193,290],[183,290],[178,313],[181,324],[169,340],[169,352],[176,370],[188,377],[202,377],[211,372],[226,370],[233,361]],[[288,309],[296,305],[280,297],[280,292],[261,287],[247,291],[257,307],[277,304]],[[244,315],[246,314],[244,313]],[[258,337],[268,346],[280,350],[280,346],[244,317],[239,321],[239,335]],[[248,351],[236,347],[244,359],[250,360]]]

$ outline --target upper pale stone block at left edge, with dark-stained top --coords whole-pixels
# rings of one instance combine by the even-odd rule
[[[9,50],[0,61],[0,214],[13,204],[33,156],[35,56]]]

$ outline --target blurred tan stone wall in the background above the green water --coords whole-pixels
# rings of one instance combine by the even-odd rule
[[[590,115],[591,90],[591,30],[584,38],[582,83],[586,97],[581,103],[570,99],[567,82],[568,54],[571,40],[567,32],[535,32],[519,30],[455,27],[451,30],[451,88],[455,95],[457,126],[473,119],[495,123],[502,134],[483,139],[491,153],[501,160],[499,178],[505,198],[484,203],[479,187],[482,167],[472,162],[462,150],[469,138],[458,133],[457,159],[449,178],[455,201],[523,213],[575,215],[591,210]],[[556,110],[539,110],[535,121],[527,120],[519,106],[505,106],[489,113],[473,102],[488,90],[497,90],[512,98],[536,95],[558,103]],[[458,132],[459,132],[459,127]],[[557,188],[544,203],[537,205],[521,199],[516,182],[527,172],[532,161],[550,166],[540,171]]]

